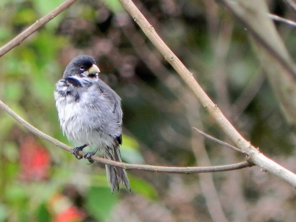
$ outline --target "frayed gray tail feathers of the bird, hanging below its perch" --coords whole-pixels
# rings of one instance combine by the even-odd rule
[[[114,147],[113,150],[112,150],[112,148],[110,148],[110,147],[106,148],[106,152],[104,152],[104,154],[103,154],[104,158],[109,159],[109,160],[122,162],[121,157],[120,157],[119,146]],[[111,188],[112,193],[114,192],[114,190],[119,191],[119,186],[121,183],[123,183],[126,186],[126,188],[128,189],[128,192],[131,193],[131,186],[128,182],[128,177],[127,177],[125,169],[120,168],[120,167],[106,165],[106,174],[107,174],[108,184]]]

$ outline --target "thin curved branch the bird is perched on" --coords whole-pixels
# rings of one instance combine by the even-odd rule
[[[21,123],[23,127],[27,128],[29,131],[34,133],[35,135],[41,137],[42,139],[54,144],[57,147],[67,150],[68,152],[72,152],[72,148],[67,146],[66,144],[58,141],[57,139],[52,138],[46,133],[38,130],[30,123],[25,121],[19,115],[17,115],[12,109],[10,109],[4,102],[0,100],[0,107],[5,110],[9,115],[11,115],[17,122]],[[85,154],[85,152],[80,151],[79,155],[81,157]],[[91,159],[94,162],[103,163],[107,165],[117,166],[124,169],[131,170],[145,170],[145,171],[153,171],[153,172],[164,172],[164,173],[209,173],[209,172],[221,172],[221,171],[229,171],[229,170],[238,170],[246,167],[250,167],[250,163],[244,161],[242,163],[236,163],[231,165],[223,165],[223,166],[210,166],[210,167],[165,167],[165,166],[152,166],[152,165],[140,165],[140,164],[130,164],[130,163],[120,163],[113,160],[107,160],[98,156],[91,156]]]

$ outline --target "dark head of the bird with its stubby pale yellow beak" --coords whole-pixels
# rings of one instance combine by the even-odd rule
[[[75,77],[75,78],[98,78],[99,68],[95,64],[93,57],[88,55],[80,55],[74,58],[69,65],[67,65],[63,78]]]

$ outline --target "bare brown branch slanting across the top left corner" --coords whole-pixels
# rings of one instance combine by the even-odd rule
[[[67,0],[64,1],[62,4],[60,4],[58,7],[56,7],[53,11],[49,12],[47,15],[42,17],[41,19],[38,19],[33,25],[30,25],[30,27],[26,28],[24,31],[22,31],[20,34],[18,34],[15,38],[13,38],[11,41],[9,41],[7,44],[2,46],[0,48],[0,57],[9,52],[11,49],[13,49],[15,46],[18,46],[22,43],[28,36],[33,34],[38,28],[41,28],[43,25],[45,25],[47,22],[52,20],[54,17],[59,15],[61,12],[63,12],[65,9],[69,8],[72,4],[74,4],[77,0]]]

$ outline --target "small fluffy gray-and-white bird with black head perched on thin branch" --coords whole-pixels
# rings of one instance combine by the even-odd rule
[[[120,97],[99,79],[95,60],[87,55],[74,58],[66,67],[63,78],[56,83],[54,99],[59,122],[64,134],[75,147],[72,154],[90,146],[95,150],[83,157],[90,157],[99,149],[109,160],[122,162],[119,145],[122,144],[122,109]],[[124,183],[131,187],[123,168],[106,165],[107,180],[111,191],[119,190]]]

